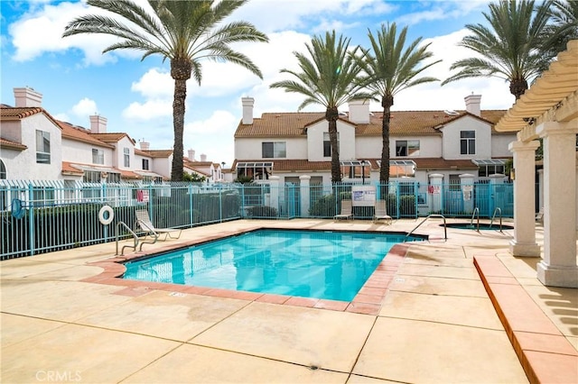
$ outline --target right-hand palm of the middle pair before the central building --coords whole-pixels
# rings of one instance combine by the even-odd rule
[[[383,106],[381,126],[383,147],[379,169],[379,181],[382,184],[389,182],[389,121],[394,96],[408,87],[438,81],[437,78],[419,76],[425,69],[442,61],[424,64],[425,59],[433,56],[433,53],[427,50],[430,44],[419,46],[422,41],[420,37],[406,47],[406,35],[407,27],[404,27],[397,36],[396,23],[381,24],[377,37],[371,31],[368,32],[371,48],[369,50],[362,48],[363,54],[357,58],[359,65],[367,74],[363,79],[364,84],[375,100],[381,98]]]

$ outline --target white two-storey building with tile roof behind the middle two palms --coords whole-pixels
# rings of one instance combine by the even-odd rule
[[[482,110],[480,95],[465,97],[461,111],[396,111],[390,123],[390,180],[428,184],[432,175],[443,183],[460,176],[476,181],[503,180],[508,143],[513,133],[498,133],[494,125],[506,111]],[[242,99],[243,117],[235,133],[232,171],[238,176],[281,182],[331,183],[331,146],[325,113],[265,113],[253,115],[255,100]],[[350,102],[337,121],[343,181],[378,181],[382,149],[382,112],[370,112],[368,102]],[[260,154],[260,156],[259,156]],[[497,176],[495,176],[497,175]]]

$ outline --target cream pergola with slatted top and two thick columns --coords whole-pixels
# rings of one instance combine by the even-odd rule
[[[509,144],[514,154],[514,256],[540,257],[536,243],[536,160],[544,150],[544,258],[537,278],[546,286],[578,288],[578,40],[568,42],[540,78],[527,89],[496,125],[499,132],[517,132]]]

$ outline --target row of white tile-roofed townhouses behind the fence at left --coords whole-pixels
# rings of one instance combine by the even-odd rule
[[[14,99],[15,106],[0,106],[0,179],[73,185],[171,178],[172,150],[151,150],[144,141],[137,148],[127,133],[107,132],[100,115],[89,116],[89,129],[56,120],[42,108],[42,94],[29,87],[14,88]],[[210,182],[223,180],[220,164],[206,159],[185,160],[183,167]]]

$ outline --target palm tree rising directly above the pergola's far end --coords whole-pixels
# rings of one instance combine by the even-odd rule
[[[462,78],[496,77],[509,81],[509,91],[518,99],[527,90],[527,82],[536,78],[549,59],[544,55],[544,33],[550,19],[547,6],[537,7],[534,0],[499,1],[482,13],[489,27],[467,24],[471,35],[459,45],[481,57],[461,59],[450,69],[458,73],[443,80],[442,85]]]

